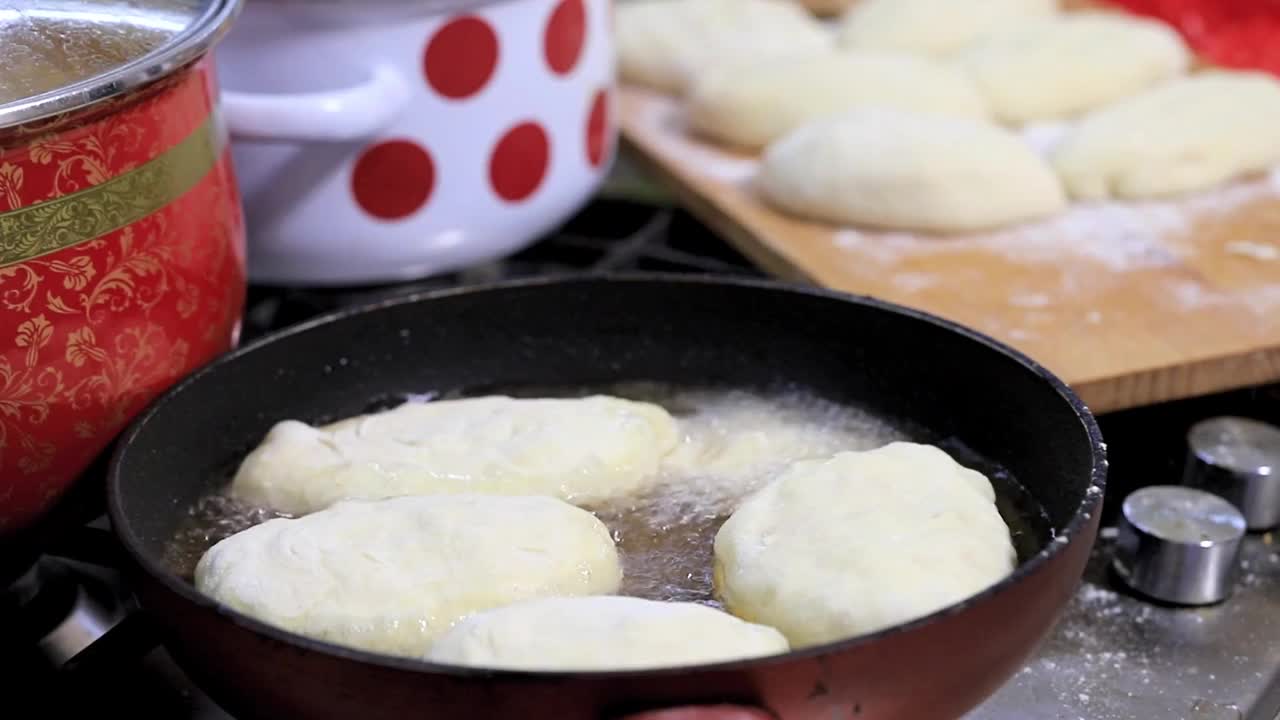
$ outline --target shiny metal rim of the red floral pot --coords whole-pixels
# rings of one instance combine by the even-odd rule
[[[244,0],[214,0],[182,32],[150,53],[74,83],[0,105],[0,128],[79,110],[173,74],[221,40],[243,4]]]

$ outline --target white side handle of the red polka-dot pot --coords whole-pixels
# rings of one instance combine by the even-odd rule
[[[232,137],[334,142],[369,137],[392,124],[410,100],[410,86],[393,65],[370,68],[360,85],[324,92],[221,92]]]

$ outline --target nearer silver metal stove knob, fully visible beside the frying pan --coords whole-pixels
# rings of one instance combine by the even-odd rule
[[[1142,594],[1178,605],[1225,600],[1235,583],[1244,516],[1221,497],[1153,486],[1124,500],[1112,565]]]

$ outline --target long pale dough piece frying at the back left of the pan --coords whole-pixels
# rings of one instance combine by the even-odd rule
[[[320,428],[276,424],[241,464],[232,495],[296,515],[343,498],[431,493],[586,505],[653,479],[677,441],[662,407],[608,396],[407,402]]]

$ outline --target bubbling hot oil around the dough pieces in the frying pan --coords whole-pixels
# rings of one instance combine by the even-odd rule
[[[625,594],[718,605],[712,592],[712,541],[742,497],[794,460],[869,450],[896,439],[932,442],[986,474],[1019,559],[1025,560],[1050,539],[1051,525],[1036,500],[1002,468],[957,441],[924,437],[801,392],[756,395],[627,383],[603,388],[492,387],[466,395],[580,397],[593,392],[662,405],[684,432],[650,491],[589,507],[613,532],[623,562]],[[369,411],[403,400],[379,401]],[[196,562],[215,542],[274,516],[279,515],[246,507],[224,495],[209,496],[183,521],[166,561],[189,580]]]

